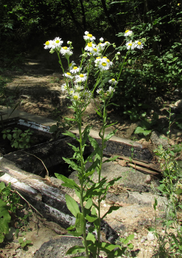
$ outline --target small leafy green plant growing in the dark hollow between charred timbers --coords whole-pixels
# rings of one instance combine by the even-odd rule
[[[7,138],[9,141],[11,141],[11,147],[15,147],[18,149],[25,149],[30,147],[31,143],[31,136],[33,131],[30,129],[25,130],[25,132],[22,132],[22,130],[18,128],[11,129],[5,129],[2,131],[3,133],[3,139]],[[13,134],[12,134],[13,133]]]

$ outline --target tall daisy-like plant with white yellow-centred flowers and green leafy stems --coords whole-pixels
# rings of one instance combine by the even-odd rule
[[[121,178],[113,178],[108,182],[107,178],[103,178],[101,175],[102,164],[114,161],[118,157],[115,156],[103,161],[103,150],[106,147],[106,142],[117,131],[113,130],[109,134],[105,134],[106,128],[115,124],[107,123],[107,109],[109,105],[116,105],[115,103],[111,103],[111,99],[115,92],[116,85],[120,81],[120,75],[126,64],[128,53],[130,50],[143,48],[142,42],[145,41],[144,38],[142,40],[133,41],[130,38],[132,37],[132,31],[130,30],[127,30],[124,36],[128,40],[126,42],[126,50],[128,51],[123,58],[119,71],[115,74],[114,78],[111,77],[109,80],[108,70],[112,67],[114,60],[119,59],[118,56],[120,55],[120,52],[117,52],[112,60],[107,57],[107,50],[111,46],[116,47],[114,43],[110,44],[110,42],[107,41],[103,43],[103,38],[100,38],[99,42],[96,43],[96,38],[86,31],[83,36],[85,46],[82,49],[81,62],[79,65],[74,61],[70,61],[70,56],[73,54],[71,41],[67,42],[67,46],[62,46],[63,41],[61,38],[56,37],[54,40],[48,40],[44,44],[45,49],[50,49],[50,53],[56,52],[58,56],[64,77],[64,84],[61,88],[63,92],[65,91],[67,93],[66,97],[70,99],[68,108],[74,110],[74,118],[66,119],[76,123],[79,131],[79,135],[75,135],[70,131],[64,133],[64,135],[74,138],[76,142],[79,143],[79,147],[69,144],[74,150],[74,155],[71,159],[63,157],[64,161],[68,163],[72,169],[77,171],[79,184],[63,175],[55,174],[58,179],[64,182],[62,185],[74,189],[80,199],[81,210],[72,197],[68,194],[65,195],[67,207],[76,218],[75,224],[71,225],[68,230],[70,230],[71,234],[74,236],[82,236],[83,238],[83,246],[74,246],[67,251],[67,254],[82,253],[85,251],[87,258],[99,258],[100,251],[103,251],[107,254],[108,258],[111,258],[123,255],[126,250],[126,247],[106,243],[101,239],[101,221],[107,214],[112,213],[113,210],[118,210],[119,207],[113,205],[104,215],[101,216],[100,213],[100,205],[106,198],[108,188]],[[63,68],[62,58],[65,58],[68,63],[66,70]],[[89,74],[92,69],[98,70],[97,79],[94,85],[89,85]],[[99,101],[95,101],[94,94],[97,94]],[[99,131],[100,144],[90,136],[90,125],[82,128],[82,118],[85,115],[86,107],[89,105],[91,99],[95,101],[96,113],[102,122]],[[84,149],[88,146],[89,142],[94,151],[84,159]],[[90,163],[90,166],[86,166],[86,163]],[[94,181],[95,171],[98,173],[97,182]],[[97,201],[95,201],[95,199]],[[90,223],[92,224],[90,225]]]

